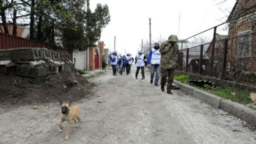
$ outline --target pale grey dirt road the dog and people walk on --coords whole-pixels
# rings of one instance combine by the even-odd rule
[[[133,68],[134,69],[134,68]],[[58,133],[58,103],[0,109],[1,144],[256,144],[256,132],[246,122],[184,95],[161,92],[145,80],[112,76],[90,79],[91,99],[79,101],[82,123],[70,140]]]

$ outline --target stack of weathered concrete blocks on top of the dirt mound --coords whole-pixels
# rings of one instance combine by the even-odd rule
[[[0,50],[0,73],[37,78],[60,71],[73,71],[75,66],[66,52],[47,48],[12,48]]]

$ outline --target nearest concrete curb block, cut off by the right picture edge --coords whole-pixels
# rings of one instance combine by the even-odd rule
[[[227,113],[238,116],[240,119],[256,126],[256,110],[227,99],[221,100],[220,108]]]

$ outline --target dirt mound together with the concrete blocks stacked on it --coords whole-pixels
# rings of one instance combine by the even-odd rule
[[[93,84],[73,71],[70,58],[47,48],[0,50],[0,102],[30,104],[88,97]]]

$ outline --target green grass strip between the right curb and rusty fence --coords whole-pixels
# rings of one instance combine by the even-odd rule
[[[182,82],[186,85],[189,85],[189,75],[180,75],[180,76],[175,76],[174,77],[175,80]],[[212,93],[216,96],[220,96],[224,99],[231,99],[233,102],[238,102],[240,104],[249,104],[252,103],[252,100],[249,98],[250,93],[244,90],[239,90],[237,88],[220,88],[220,87],[215,87],[212,88],[209,85],[204,85],[204,87],[198,87],[196,85],[191,85],[195,88],[198,88],[200,90],[204,90],[208,93]],[[232,96],[230,93],[234,92],[236,93],[235,96]],[[254,108],[255,109],[255,108]]]

